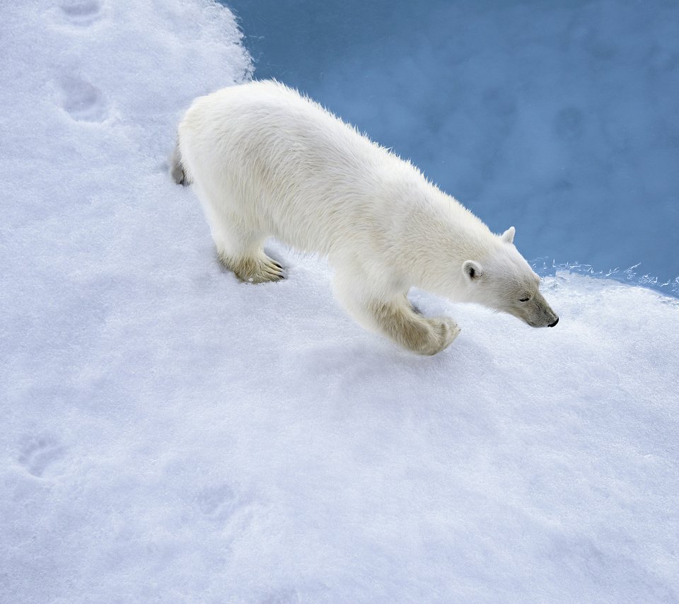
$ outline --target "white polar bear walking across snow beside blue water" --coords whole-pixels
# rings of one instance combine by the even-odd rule
[[[219,259],[240,279],[283,278],[262,248],[269,237],[318,252],[349,314],[412,352],[436,354],[460,332],[452,318],[418,313],[412,286],[533,327],[559,320],[513,245],[513,227],[491,233],[414,165],[281,83],[197,98],[170,171],[195,189]]]

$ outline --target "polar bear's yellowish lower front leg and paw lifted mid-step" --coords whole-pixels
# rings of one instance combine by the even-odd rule
[[[403,300],[373,305],[376,327],[402,347],[417,354],[436,354],[458,337],[460,327],[449,317],[429,318],[419,315]]]

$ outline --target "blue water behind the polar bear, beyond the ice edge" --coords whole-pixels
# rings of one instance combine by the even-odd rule
[[[256,78],[411,158],[494,231],[516,226],[527,258],[677,288],[678,2],[225,4]]]

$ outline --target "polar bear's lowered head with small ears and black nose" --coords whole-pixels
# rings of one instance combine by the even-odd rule
[[[554,327],[559,318],[540,294],[540,277],[514,247],[514,227],[497,238],[482,261],[463,262],[470,301],[509,313],[531,327]]]

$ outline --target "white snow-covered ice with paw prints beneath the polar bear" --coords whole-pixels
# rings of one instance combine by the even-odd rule
[[[1,602],[678,600],[679,301],[558,272],[532,330],[415,291],[463,332],[413,356],[322,259],[239,283],[168,178],[249,76],[226,9],[6,3],[0,52]]]

